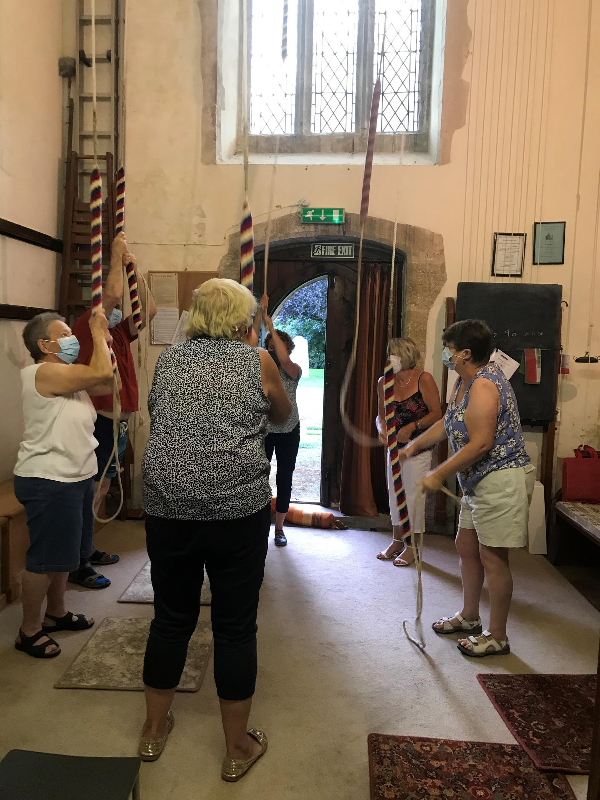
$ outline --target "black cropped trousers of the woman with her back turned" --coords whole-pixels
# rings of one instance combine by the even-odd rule
[[[250,517],[214,522],[146,517],[154,619],[144,683],[174,689],[198,624],[204,566],[210,580],[214,682],[223,700],[246,700],[256,684],[256,613],[265,571],[270,505]]]

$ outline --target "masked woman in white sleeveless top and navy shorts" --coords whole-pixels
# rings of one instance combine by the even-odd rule
[[[22,581],[23,622],[14,646],[34,658],[60,647],[46,634],[86,630],[94,620],[65,607],[66,579],[94,547],[93,478],[96,412],[89,394],[109,394],[108,323],[90,318],[94,355],[75,364],[79,344],[60,314],[38,314],[23,339],[34,364],[21,372],[25,430],[14,467],[14,493],[25,506],[30,547]],[[47,598],[42,620],[42,604]]]

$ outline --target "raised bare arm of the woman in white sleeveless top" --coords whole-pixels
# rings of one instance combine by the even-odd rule
[[[84,364],[42,364],[35,374],[35,388],[42,397],[60,397],[62,394],[94,389],[106,386],[109,394],[113,381],[113,367],[110,363],[110,352],[106,343],[110,340],[108,321],[102,312],[90,317],[90,330],[94,341],[94,351],[90,365]]]

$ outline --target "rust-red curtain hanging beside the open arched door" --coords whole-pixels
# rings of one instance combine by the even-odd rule
[[[356,366],[346,410],[358,430],[377,437],[377,382],[386,362],[390,265],[363,264],[362,270]],[[385,456],[383,446],[359,445],[346,433],[339,503],[342,514],[371,517],[389,511]]]

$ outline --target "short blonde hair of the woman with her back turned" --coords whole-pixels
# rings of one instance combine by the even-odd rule
[[[256,313],[254,296],[230,278],[210,278],[194,290],[186,334],[233,339],[240,326],[250,329]]]

